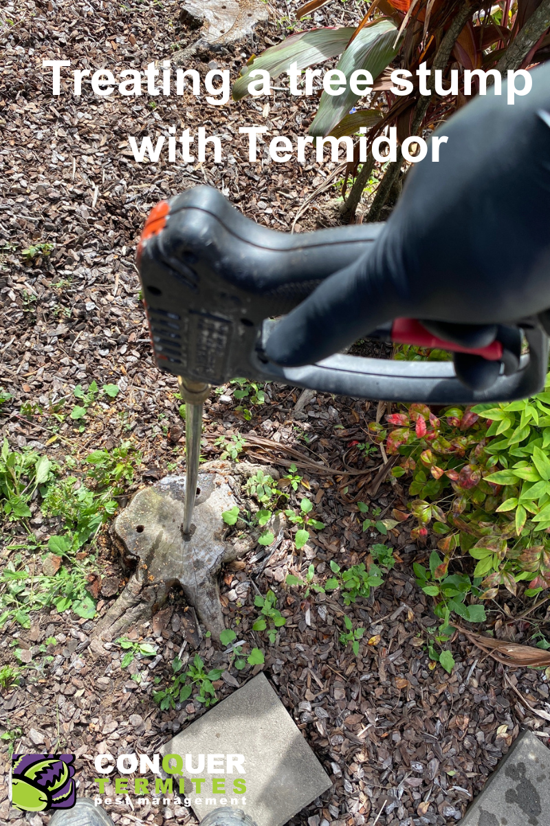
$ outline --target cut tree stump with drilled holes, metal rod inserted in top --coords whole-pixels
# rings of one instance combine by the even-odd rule
[[[236,482],[233,474],[247,477],[255,470],[247,463],[233,467],[229,462],[204,465],[188,537],[182,530],[185,476],[165,477],[134,495],[129,506],[116,517],[113,534],[119,540],[125,561],[137,563],[137,567],[125,590],[96,626],[93,636],[98,643],[150,619],[176,583],[187,603],[195,608],[200,622],[219,640],[225,627],[219,601],[219,571],[223,564],[254,548],[261,532],[251,530],[237,542],[228,542],[228,526],[222,513],[237,505],[229,484]],[[280,529],[278,518],[272,529]]]

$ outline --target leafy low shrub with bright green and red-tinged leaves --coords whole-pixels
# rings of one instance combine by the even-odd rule
[[[411,539],[439,535],[434,580],[450,565],[486,600],[499,586],[515,595],[522,581],[527,596],[550,587],[550,377],[532,399],[438,415],[413,404],[388,424],[369,426],[402,456],[393,476],[411,477],[414,497],[393,517],[416,521]]]

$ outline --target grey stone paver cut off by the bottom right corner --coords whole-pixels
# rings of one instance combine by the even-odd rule
[[[548,826],[550,749],[524,731],[501,760],[459,826]]]

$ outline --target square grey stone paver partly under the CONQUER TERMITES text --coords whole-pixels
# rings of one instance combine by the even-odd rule
[[[283,826],[294,814],[331,787],[331,781],[304,740],[288,711],[264,674],[258,674],[235,691],[227,700],[191,723],[162,749],[162,754],[186,754],[197,767],[199,754],[242,754],[245,774],[228,774],[223,770],[209,774],[189,774],[185,768],[186,797],[199,819],[219,805],[242,809],[258,826]],[[190,784],[192,776],[205,778],[200,803]],[[246,794],[232,794],[233,779],[242,776]],[[212,794],[214,777],[225,777],[226,793]],[[176,790],[177,784],[174,784]],[[205,803],[206,798],[215,805]],[[227,800],[221,804],[220,800]],[[234,801],[234,802],[233,802]]]

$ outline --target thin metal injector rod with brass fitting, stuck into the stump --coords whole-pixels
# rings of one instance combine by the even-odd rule
[[[210,392],[210,385],[191,382],[178,376],[180,393],[186,402],[186,498],[184,504],[183,533],[190,534],[193,508],[199,477],[200,435],[204,400]]]

